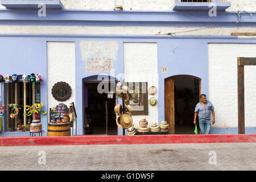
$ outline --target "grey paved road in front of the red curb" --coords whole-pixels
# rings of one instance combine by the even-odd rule
[[[69,171],[256,170],[256,143],[0,147],[0,168]]]

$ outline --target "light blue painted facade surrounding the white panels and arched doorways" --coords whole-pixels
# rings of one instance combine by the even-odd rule
[[[208,6],[208,4],[207,4]],[[225,6],[226,5],[225,3]],[[17,75],[40,73],[43,82],[40,84],[40,101],[49,111],[47,100],[47,42],[75,43],[75,104],[77,112],[77,134],[84,134],[83,115],[83,80],[96,75],[108,75],[110,71],[85,70],[86,62],[82,58],[81,42],[115,42],[117,43],[117,57],[112,68],[115,73],[124,73],[124,43],[156,43],[158,47],[158,124],[165,118],[164,80],[172,76],[187,75],[200,78],[201,93],[209,93],[208,72],[208,44],[210,43],[236,43],[255,44],[256,39],[240,39],[234,35],[193,35],[197,31],[211,28],[250,28],[256,26],[255,12],[226,12],[221,5],[216,17],[210,17],[208,10],[191,9],[191,6],[171,11],[99,11],[99,10],[65,10],[49,9],[47,15],[37,15],[38,9],[26,10],[26,6],[16,9],[0,9],[0,74]],[[242,18],[241,18],[242,17]],[[40,27],[56,26],[57,33],[40,31]],[[142,28],[184,28],[178,32],[159,33],[155,35],[137,35],[136,32],[124,34],[76,34],[77,30],[86,27],[142,27]],[[38,27],[38,32],[32,34],[28,27]],[[70,27],[71,31],[60,33],[61,27]],[[128,28],[129,29],[129,28]],[[9,33],[11,32],[11,33]],[[28,33],[27,33],[28,32]],[[187,34],[188,33],[188,34]],[[192,35],[191,35],[192,34]],[[253,50],[252,50],[253,51]],[[255,51],[255,50],[254,50]],[[200,67],[200,68],[199,68]],[[167,68],[167,72],[162,72]],[[92,78],[92,77],[91,77]],[[118,78],[122,80],[122,78]],[[94,78],[90,81],[96,81]],[[6,86],[2,83],[2,105],[6,104]],[[119,100],[120,102],[120,100]],[[18,137],[29,135],[26,132],[10,132],[7,127],[7,117],[2,117],[1,137]],[[47,135],[49,118],[42,116],[43,135]],[[246,127],[246,133],[255,133],[256,127]],[[235,134],[237,127],[214,127],[211,134]],[[118,134],[122,134],[119,128]]]

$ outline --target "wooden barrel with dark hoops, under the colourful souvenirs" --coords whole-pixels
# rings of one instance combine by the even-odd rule
[[[69,124],[49,124],[47,136],[71,136]]]

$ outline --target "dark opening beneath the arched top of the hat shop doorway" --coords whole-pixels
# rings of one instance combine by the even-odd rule
[[[117,135],[115,94],[98,93],[98,84],[84,82],[84,134]]]

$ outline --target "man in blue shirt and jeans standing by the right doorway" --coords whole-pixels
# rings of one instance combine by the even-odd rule
[[[212,124],[215,122],[214,107],[212,102],[207,101],[205,94],[200,95],[200,102],[197,103],[195,109],[194,124],[196,125],[196,117],[199,117],[199,127],[202,135],[209,134],[210,132],[210,113],[212,112]]]

